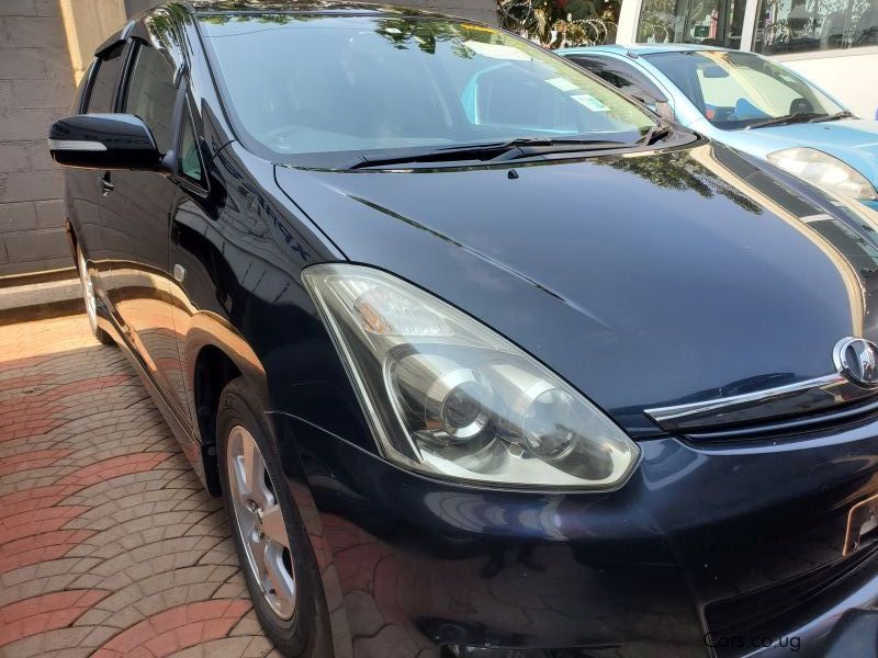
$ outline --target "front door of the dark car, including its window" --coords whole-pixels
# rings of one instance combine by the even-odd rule
[[[151,45],[134,39],[116,109],[139,116],[162,154],[172,151],[181,94],[172,61]],[[170,217],[180,190],[156,171],[104,171],[101,212],[112,236],[108,296],[123,333],[169,404],[189,417],[176,395],[180,355],[170,303],[168,250]]]

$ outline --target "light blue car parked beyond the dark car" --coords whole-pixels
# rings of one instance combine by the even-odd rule
[[[559,54],[666,118],[878,209],[878,122],[765,57],[686,44]]]

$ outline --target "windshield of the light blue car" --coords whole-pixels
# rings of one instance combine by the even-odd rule
[[[787,115],[830,116],[844,109],[819,89],[752,53],[645,55],[714,126],[745,128]]]

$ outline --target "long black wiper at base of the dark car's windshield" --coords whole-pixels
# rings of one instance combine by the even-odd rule
[[[578,137],[519,137],[508,141],[489,141],[483,144],[469,144],[464,146],[449,146],[443,148],[419,151],[415,154],[398,154],[383,158],[361,156],[348,169],[363,169],[367,167],[381,167],[387,164],[405,164],[409,162],[454,162],[458,160],[497,161],[534,156],[579,150],[600,150],[630,146],[624,141],[607,139],[583,139]],[[506,157],[505,157],[506,156]]]

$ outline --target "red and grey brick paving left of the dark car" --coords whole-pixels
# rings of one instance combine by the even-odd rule
[[[209,496],[85,316],[0,327],[0,656],[277,656]]]

